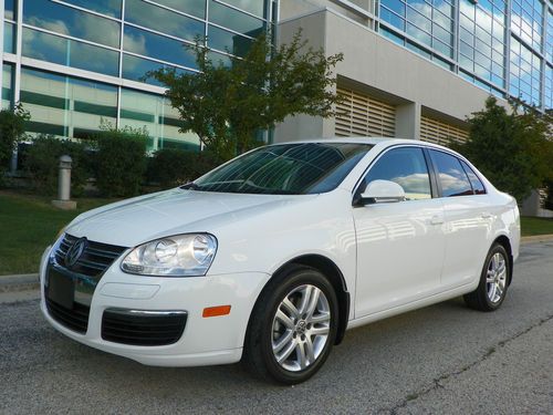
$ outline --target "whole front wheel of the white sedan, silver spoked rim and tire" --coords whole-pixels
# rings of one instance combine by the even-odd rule
[[[267,380],[306,381],[331,352],[337,313],[334,288],[320,271],[294,267],[275,276],[253,309],[244,362]]]

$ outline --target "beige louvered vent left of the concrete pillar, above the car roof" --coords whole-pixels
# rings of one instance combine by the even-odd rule
[[[336,136],[393,137],[396,133],[396,107],[366,94],[337,87],[344,97],[336,111]]]

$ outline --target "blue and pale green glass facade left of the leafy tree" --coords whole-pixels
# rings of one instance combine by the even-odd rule
[[[207,39],[229,64],[276,18],[272,0],[0,0],[2,107],[21,102],[30,133],[81,138],[146,127],[149,148],[198,148],[148,71],[197,70],[186,44]]]

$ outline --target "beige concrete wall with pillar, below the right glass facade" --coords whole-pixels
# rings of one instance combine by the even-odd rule
[[[289,1],[292,0],[282,0],[281,11],[292,13]],[[453,72],[395,44],[328,6],[320,3],[311,13],[307,11],[298,19],[289,15],[279,25],[280,42],[286,42],[298,28],[303,28],[310,42],[315,48],[322,45],[327,55],[344,53],[344,61],[336,66],[342,82],[356,84],[375,97],[398,105],[398,136],[418,137],[421,113],[431,113],[435,117],[441,114],[444,121],[462,125],[468,115],[483,107],[489,96]],[[334,121],[298,116],[285,120],[275,129],[275,141],[317,136],[334,136]]]

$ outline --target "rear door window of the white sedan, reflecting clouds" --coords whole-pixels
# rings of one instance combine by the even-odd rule
[[[473,195],[469,178],[457,157],[434,149],[430,151],[430,156],[438,169],[444,197]]]

